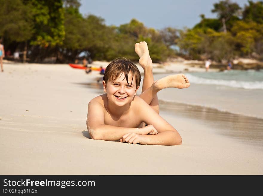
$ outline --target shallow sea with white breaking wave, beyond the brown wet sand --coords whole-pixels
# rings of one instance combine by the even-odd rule
[[[209,107],[223,112],[263,118],[263,70],[186,72],[191,86],[158,92],[160,101]],[[154,79],[169,74],[156,74]],[[141,82],[142,84],[142,82]]]

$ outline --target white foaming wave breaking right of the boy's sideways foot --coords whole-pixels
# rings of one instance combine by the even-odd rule
[[[263,81],[236,81],[236,80],[217,80],[209,78],[201,78],[191,74],[186,74],[190,83],[193,84],[210,84],[224,85],[228,87],[243,88],[243,89],[263,89]]]

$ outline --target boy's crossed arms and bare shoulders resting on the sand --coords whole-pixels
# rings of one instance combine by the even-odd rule
[[[92,139],[133,144],[181,144],[182,139],[177,130],[138,96],[134,97],[128,114],[115,121],[115,126],[105,124],[105,120],[112,121],[112,117],[104,107],[105,97],[105,94],[100,95],[88,104],[87,124]],[[107,116],[106,119],[105,116]],[[142,122],[148,125],[137,128]]]

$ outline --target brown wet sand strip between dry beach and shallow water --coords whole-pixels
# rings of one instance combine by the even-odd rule
[[[237,139],[241,143],[263,146],[263,119],[175,102],[159,101],[159,104],[163,113],[174,118],[184,116],[198,120],[216,134]]]

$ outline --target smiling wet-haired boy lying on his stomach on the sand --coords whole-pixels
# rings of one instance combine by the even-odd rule
[[[88,104],[87,128],[92,139],[132,144],[178,145],[178,131],[159,115],[157,92],[164,88],[188,88],[184,74],[170,75],[154,81],[152,59],[145,41],[135,44],[144,78],[142,93],[140,71],[125,58],[112,61],[105,69],[103,95]],[[146,126],[143,126],[146,124]]]

